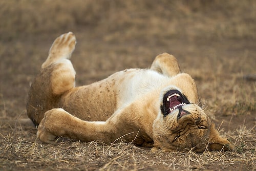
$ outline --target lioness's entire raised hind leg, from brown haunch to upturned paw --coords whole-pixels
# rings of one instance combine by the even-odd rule
[[[69,58],[75,49],[75,36],[69,32],[59,36],[47,60],[31,84],[27,115],[38,125],[46,111],[56,108],[61,95],[75,87],[75,70]]]

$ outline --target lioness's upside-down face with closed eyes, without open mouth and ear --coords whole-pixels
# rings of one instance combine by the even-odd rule
[[[164,151],[193,148],[203,152],[209,141],[210,124],[209,117],[196,104],[182,105],[166,116],[159,113],[153,124],[154,146]]]

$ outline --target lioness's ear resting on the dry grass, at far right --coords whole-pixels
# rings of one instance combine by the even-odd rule
[[[222,151],[232,151],[234,145],[226,138],[219,135],[219,132],[215,129],[215,124],[210,125],[210,135],[209,135],[209,150],[222,150]]]

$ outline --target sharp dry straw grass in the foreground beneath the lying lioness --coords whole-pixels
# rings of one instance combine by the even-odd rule
[[[253,131],[254,129],[254,131]],[[228,133],[235,139],[233,152],[151,152],[131,143],[120,142],[106,145],[101,142],[75,142],[59,139],[55,145],[33,141],[35,129],[20,131],[3,136],[1,157],[2,169],[37,170],[114,170],[114,169],[228,169],[240,166],[241,169],[255,168],[255,127],[245,126]],[[22,132],[22,133],[20,133]],[[254,132],[254,134],[253,134]],[[29,135],[29,136],[28,136]],[[246,137],[245,137],[246,136]],[[247,142],[245,141],[247,140]],[[247,146],[248,140],[254,146]]]

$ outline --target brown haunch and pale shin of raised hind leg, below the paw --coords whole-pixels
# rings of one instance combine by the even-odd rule
[[[38,125],[46,111],[56,108],[61,95],[75,87],[75,70],[68,59],[40,70],[31,84],[27,115]]]

